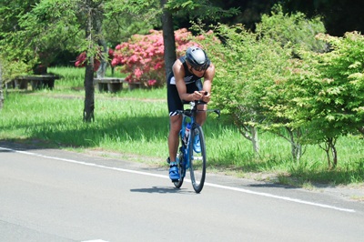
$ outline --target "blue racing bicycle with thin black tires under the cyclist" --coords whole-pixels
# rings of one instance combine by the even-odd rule
[[[207,95],[207,93],[205,94]],[[184,105],[188,103],[184,102]],[[183,116],[182,127],[179,131],[180,144],[179,153],[177,157],[179,162],[177,163],[179,180],[174,180],[173,183],[175,187],[180,188],[183,184],[183,179],[186,176],[186,171],[189,168],[192,186],[195,192],[201,192],[205,183],[206,176],[206,146],[205,146],[205,136],[202,127],[196,123],[196,115],[198,112],[215,112],[220,117],[220,110],[197,110],[197,105],[205,104],[202,101],[192,101],[189,102],[190,109],[187,110],[177,110],[179,115]],[[189,120],[189,122],[187,122]],[[187,139],[186,127],[190,124],[190,131]],[[194,148],[195,138],[199,137],[200,149],[196,150]]]

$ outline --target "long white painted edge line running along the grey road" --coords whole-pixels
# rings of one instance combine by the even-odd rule
[[[110,169],[110,170],[134,173],[134,174],[143,175],[143,176],[155,176],[155,177],[169,179],[169,176],[158,175],[158,174],[153,174],[153,173],[147,173],[147,172],[142,172],[142,171],[129,170],[129,169],[124,169],[124,168],[110,167],[110,166],[102,166],[102,165],[97,165],[97,164],[93,164],[93,163],[86,163],[86,162],[83,162],[83,161],[77,161],[77,160],[54,157],[54,156],[43,156],[43,155],[39,155],[39,154],[36,154],[36,153],[31,153],[31,152],[21,151],[21,150],[15,150],[15,149],[10,149],[10,148],[5,148],[5,147],[0,147],[0,150],[1,149],[11,151],[11,152],[15,152],[15,153],[25,154],[25,155],[29,155],[29,156],[38,156],[38,157],[43,157],[43,158],[66,161],[66,162],[75,163],[75,164],[84,165],[84,166],[94,166],[94,167],[105,168],[105,169]],[[189,179],[185,179],[184,181],[191,182],[191,180],[189,180]],[[306,205],[316,206],[316,207],[325,207],[325,208],[335,209],[335,210],[339,210],[339,211],[343,211],[343,212],[350,212],[350,213],[355,213],[356,212],[354,209],[342,208],[342,207],[333,207],[333,206],[329,206],[329,205],[325,205],[325,204],[308,202],[308,201],[305,201],[305,200],[300,200],[300,199],[291,198],[291,197],[281,197],[281,196],[272,195],[272,194],[268,194],[268,193],[255,192],[255,191],[251,191],[251,190],[244,189],[244,188],[227,187],[227,186],[213,184],[213,183],[205,183],[205,186],[207,186],[207,187],[217,187],[217,188],[221,188],[221,189],[227,189],[227,190],[232,190],[232,191],[237,191],[237,192],[242,192],[242,193],[248,193],[248,194],[254,194],[254,195],[263,196],[263,197],[272,197],[272,198],[276,198],[276,199],[280,199],[280,200],[286,200],[286,201],[290,201],[290,202],[306,204]]]

